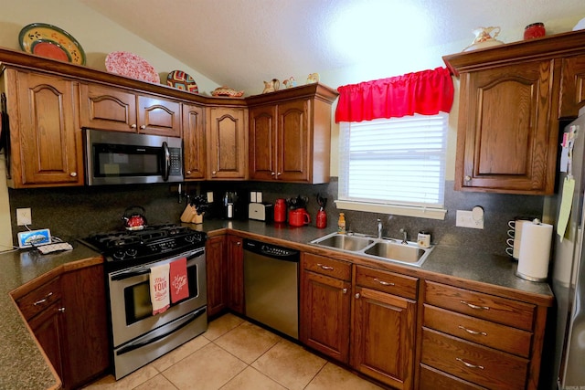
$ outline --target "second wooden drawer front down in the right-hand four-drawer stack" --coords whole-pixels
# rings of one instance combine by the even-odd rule
[[[424,305],[424,326],[473,343],[529,357],[532,333],[468,315]]]

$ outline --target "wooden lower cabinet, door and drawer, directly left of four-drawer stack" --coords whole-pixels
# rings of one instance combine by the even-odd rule
[[[350,364],[398,389],[414,382],[417,286],[416,278],[356,266]]]

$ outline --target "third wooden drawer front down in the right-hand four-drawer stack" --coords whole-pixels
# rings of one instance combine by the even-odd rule
[[[527,359],[426,328],[420,361],[488,389],[524,389],[527,381]]]

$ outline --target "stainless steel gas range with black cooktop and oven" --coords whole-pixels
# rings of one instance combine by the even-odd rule
[[[206,238],[188,227],[157,225],[81,240],[105,258],[116,379],[207,331]],[[153,314],[151,269],[182,258],[188,295]]]

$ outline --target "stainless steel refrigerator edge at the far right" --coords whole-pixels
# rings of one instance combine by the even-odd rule
[[[557,299],[554,373],[558,374],[559,390],[585,389],[585,258],[583,253],[583,196],[585,192],[585,108],[580,116],[565,127],[577,126],[572,152],[572,174],[575,190],[567,232],[562,242],[554,235],[552,289]],[[560,209],[563,182],[567,174],[558,174],[557,209]],[[557,221],[558,221],[557,210]]]

